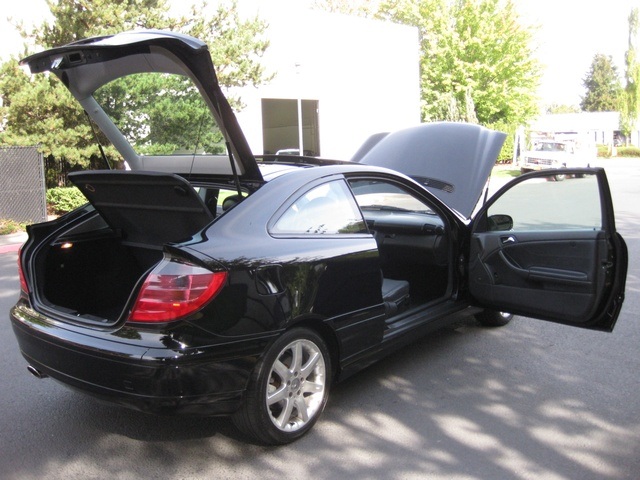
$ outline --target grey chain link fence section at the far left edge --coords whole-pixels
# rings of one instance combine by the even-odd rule
[[[0,218],[21,223],[47,219],[43,159],[37,147],[0,147]]]

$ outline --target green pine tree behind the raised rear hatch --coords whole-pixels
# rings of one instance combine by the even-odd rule
[[[260,64],[268,47],[263,36],[266,24],[257,17],[241,19],[235,0],[219,4],[214,11],[207,10],[203,2],[192,6],[190,15],[180,18],[169,16],[166,0],[47,0],[47,5],[51,22],[45,21],[31,31],[16,26],[38,50],[135,28],[168,29],[193,35],[209,45],[220,84],[229,89],[230,101],[236,108],[242,107],[240,98],[232,94],[236,87],[258,85],[269,79]],[[45,155],[64,159],[72,166],[87,166],[91,158],[99,155],[88,120],[61,82],[48,75],[30,77],[15,59],[0,66],[0,72],[0,143],[40,144]],[[128,87],[128,96],[136,98],[135,103],[143,101],[141,97],[149,93],[150,87],[166,87],[169,91],[173,85],[149,85],[148,80],[143,80]],[[169,98],[164,106],[159,102],[155,107],[164,108],[165,127],[173,128],[165,132],[164,138],[154,139],[165,145],[175,144],[176,136],[184,133],[187,126],[180,118],[171,117],[175,109],[167,108],[167,102]],[[156,113],[155,118],[160,119],[160,112]],[[199,113],[193,116],[201,117]],[[212,135],[219,140],[219,134]],[[115,155],[113,149],[109,153]]]

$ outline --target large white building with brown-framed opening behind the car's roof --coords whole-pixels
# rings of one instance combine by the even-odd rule
[[[417,29],[285,4],[259,12],[274,79],[240,93],[254,153],[348,159],[371,134],[420,122]]]

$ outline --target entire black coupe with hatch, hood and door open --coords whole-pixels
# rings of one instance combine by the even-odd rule
[[[376,135],[351,161],[258,159],[206,45],[175,33],[23,63],[58,76],[126,165],[70,174],[89,203],[28,228],[11,321],[38,377],[282,444],[332,382],[460,315],[613,329],[627,250],[602,169],[487,201],[505,135],[460,123]]]

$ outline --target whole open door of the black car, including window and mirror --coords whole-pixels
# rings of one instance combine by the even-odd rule
[[[499,311],[611,331],[624,299],[627,247],[604,169],[523,175],[471,225],[469,291]]]

